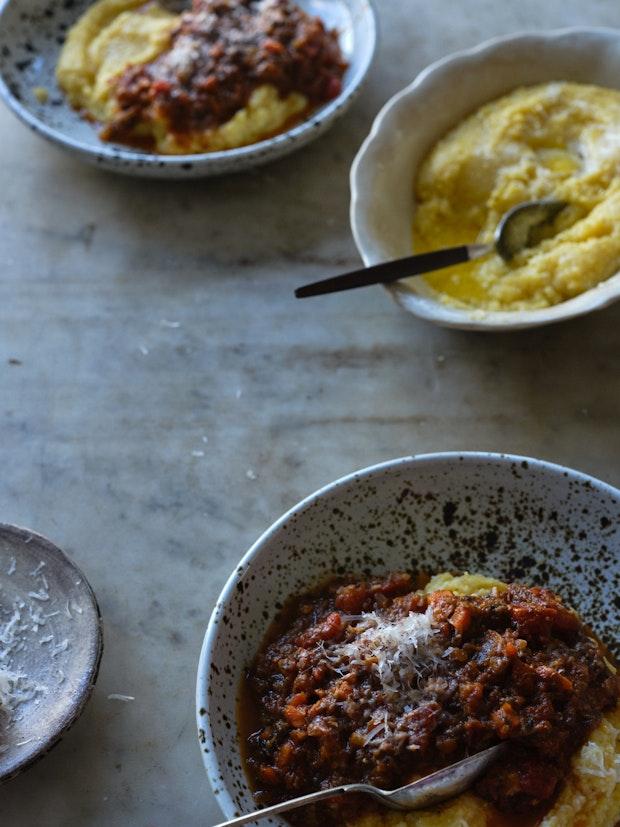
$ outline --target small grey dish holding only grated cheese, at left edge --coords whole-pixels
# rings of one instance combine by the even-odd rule
[[[23,676],[21,702],[0,708],[0,780],[49,752],[79,718],[102,649],[82,572],[41,535],[0,524],[0,672]]]

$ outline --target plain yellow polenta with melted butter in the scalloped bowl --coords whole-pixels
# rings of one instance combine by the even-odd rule
[[[441,300],[548,307],[620,269],[620,92],[577,83],[517,89],[449,132],[416,182],[416,252],[490,242],[506,210],[565,200],[552,237],[506,264],[490,254],[426,276]],[[412,285],[413,286],[413,285]]]

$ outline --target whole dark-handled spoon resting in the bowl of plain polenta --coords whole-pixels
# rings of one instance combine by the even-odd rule
[[[526,201],[523,204],[517,204],[502,216],[495,230],[493,244],[464,244],[459,247],[448,247],[445,250],[434,250],[432,253],[421,253],[394,261],[385,261],[352,273],[344,273],[341,276],[306,284],[295,290],[295,295],[298,299],[303,299],[324,293],[352,290],[354,287],[387,284],[409,276],[422,275],[433,270],[441,270],[443,267],[472,261],[493,250],[504,261],[510,261],[521,250],[537,244],[540,241],[540,231],[549,225],[564,207],[566,207],[565,201]]]

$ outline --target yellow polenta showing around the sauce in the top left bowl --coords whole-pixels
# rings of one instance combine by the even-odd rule
[[[154,2],[98,0],[71,28],[62,48],[56,76],[77,109],[106,124],[117,115],[115,80],[129,66],[148,63],[165,52],[179,17]],[[248,104],[221,126],[179,139],[163,121],[136,127],[136,139],[149,139],[157,152],[185,154],[245,146],[281,130],[308,105],[304,95],[281,97],[263,85]]]

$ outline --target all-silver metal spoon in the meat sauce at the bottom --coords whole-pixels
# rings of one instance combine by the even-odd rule
[[[462,793],[481,775],[489,764],[494,761],[506,749],[506,744],[497,744],[482,752],[465,758],[449,767],[444,767],[438,772],[420,778],[412,784],[399,787],[397,790],[380,790],[371,784],[343,784],[341,787],[332,787],[329,790],[319,790],[317,793],[302,795],[300,798],[293,798],[291,801],[283,801],[282,804],[275,804],[273,807],[265,807],[255,813],[233,818],[230,821],[223,821],[215,827],[237,827],[241,824],[248,824],[260,818],[267,818],[278,813],[286,813],[303,807],[306,804],[313,804],[315,801],[322,801],[324,798],[331,798],[334,795],[345,795],[346,793],[366,793],[378,799],[386,807],[392,810],[420,810],[423,807],[432,807],[448,798]]]

